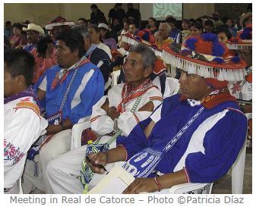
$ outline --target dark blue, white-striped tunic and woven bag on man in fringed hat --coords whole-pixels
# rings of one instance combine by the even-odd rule
[[[124,168],[134,177],[185,168],[189,182],[208,183],[226,174],[234,163],[247,129],[237,103],[227,101],[207,109],[201,102],[179,97],[164,99],[128,137],[117,139],[128,155]],[[156,124],[147,139],[143,130],[150,121]]]

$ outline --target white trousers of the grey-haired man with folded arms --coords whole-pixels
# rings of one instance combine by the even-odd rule
[[[100,143],[106,143],[109,136],[103,136]],[[115,141],[110,144],[109,149],[115,148]],[[81,146],[71,150],[49,162],[46,168],[46,193],[55,194],[81,194],[84,186],[81,183],[81,165],[85,157],[87,146]],[[115,163],[106,165],[106,170],[115,166]],[[105,176],[105,174],[94,174],[89,183],[89,190]]]

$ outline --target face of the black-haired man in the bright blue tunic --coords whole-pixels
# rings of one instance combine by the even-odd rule
[[[57,41],[56,45],[56,61],[60,67],[71,67],[77,61],[77,51],[71,52],[66,43],[62,40]]]

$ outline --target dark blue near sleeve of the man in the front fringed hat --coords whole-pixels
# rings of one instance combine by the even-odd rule
[[[239,155],[246,133],[245,115],[229,110],[204,136],[204,153],[187,156],[185,169],[190,182],[211,183],[225,175]]]

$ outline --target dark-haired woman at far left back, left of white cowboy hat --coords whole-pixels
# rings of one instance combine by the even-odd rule
[[[22,34],[22,25],[15,23],[12,25],[13,36],[10,37],[11,48],[22,48],[23,45],[27,45],[27,37]]]

